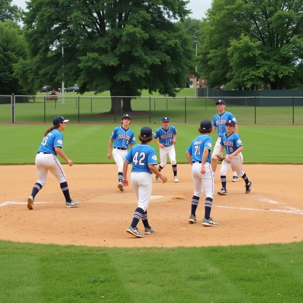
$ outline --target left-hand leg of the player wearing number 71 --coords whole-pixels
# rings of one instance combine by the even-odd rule
[[[200,197],[202,195],[202,180],[201,180],[201,164],[200,163],[193,163],[191,167],[191,177],[194,183],[194,194],[191,198],[191,214],[189,216],[188,222],[189,223],[197,223],[196,219],[196,210],[199,204]]]

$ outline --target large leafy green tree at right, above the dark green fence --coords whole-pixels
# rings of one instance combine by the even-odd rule
[[[214,0],[201,34],[200,65],[210,86],[300,86],[302,1]]]

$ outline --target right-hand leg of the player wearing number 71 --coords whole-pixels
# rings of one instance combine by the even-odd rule
[[[202,184],[205,190],[205,202],[204,202],[204,218],[202,225],[204,226],[219,226],[220,224],[213,221],[210,217],[212,201],[214,199],[214,176],[212,175],[211,166],[209,163],[205,163],[205,174],[201,174]]]

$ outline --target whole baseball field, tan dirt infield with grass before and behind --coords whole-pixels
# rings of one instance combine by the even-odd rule
[[[74,165],[60,161],[81,205],[65,208],[49,174],[32,211],[34,159],[49,124],[0,125],[1,303],[303,301],[302,125],[240,125],[252,190],[245,195],[244,181],[231,182],[229,171],[228,195],[215,195],[211,211],[220,226],[208,228],[203,198],[198,223],[188,223],[193,184],[185,151],[198,125],[175,125],[180,182],[171,165],[162,171],[168,183],[153,182],[148,216],[157,232],[144,238],[125,231],[135,194],[132,186],[118,190],[117,167],[106,157],[117,125],[67,124],[63,150]],[[138,134],[142,126],[131,128]]]

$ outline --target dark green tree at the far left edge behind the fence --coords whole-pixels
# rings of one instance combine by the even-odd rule
[[[28,95],[32,92],[19,85],[13,75],[13,65],[19,58],[27,58],[24,46],[20,26],[13,21],[0,21],[0,95]]]

